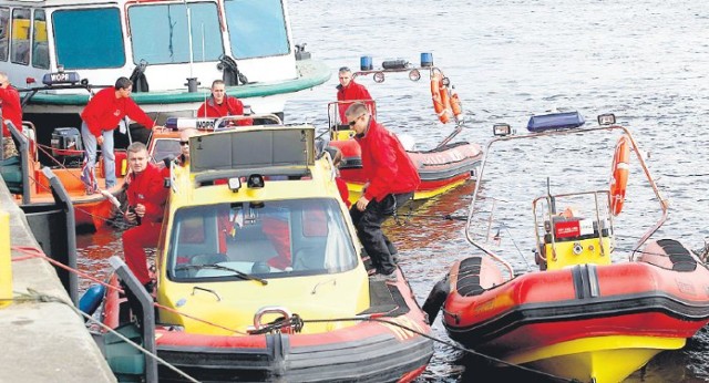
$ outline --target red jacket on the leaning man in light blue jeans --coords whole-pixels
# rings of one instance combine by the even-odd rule
[[[131,97],[116,99],[113,86],[101,90],[89,101],[81,112],[81,120],[97,137],[102,131],[116,128],[119,122],[126,115],[148,130],[155,126],[153,120]]]

